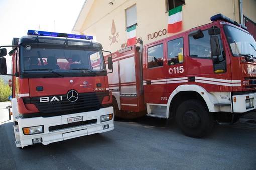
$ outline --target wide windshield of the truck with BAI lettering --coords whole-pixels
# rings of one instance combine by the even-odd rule
[[[21,77],[96,76],[106,72],[100,46],[65,43],[22,43]]]

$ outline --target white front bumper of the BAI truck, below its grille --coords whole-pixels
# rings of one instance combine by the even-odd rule
[[[35,118],[20,118],[16,117],[16,121],[18,125],[14,126],[14,132],[16,137],[16,146],[24,147],[28,145],[32,145],[33,139],[42,138],[42,143],[44,145],[67,140],[75,137],[95,134],[95,133],[103,133],[114,129],[113,118],[110,121],[101,123],[101,116],[113,114],[113,107],[101,108],[97,111],[90,112],[81,112],[76,114],[68,114],[54,117],[35,117]],[[65,125],[68,124],[68,118],[82,116],[83,121],[94,120],[93,123],[79,125],[75,127],[64,127],[61,129],[55,129],[53,131],[49,131],[49,127],[57,126],[57,125]],[[24,135],[23,128],[24,127],[33,127],[33,126],[44,126],[44,133],[40,134],[32,134],[32,135]],[[109,128],[103,129],[104,125],[108,125]]]

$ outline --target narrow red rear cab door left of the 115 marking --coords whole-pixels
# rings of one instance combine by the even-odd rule
[[[167,60],[164,41],[145,46],[143,59],[143,86],[145,103],[166,104]]]

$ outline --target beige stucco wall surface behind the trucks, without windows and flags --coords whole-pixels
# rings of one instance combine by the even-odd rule
[[[108,4],[110,1],[114,4]],[[182,6],[182,31],[210,23],[210,17],[218,13],[240,22],[239,0],[185,0],[185,3]],[[173,35],[166,33],[168,13],[165,0],[93,0],[80,33],[96,36],[105,50],[114,52],[125,47],[125,9],[134,4],[137,6],[136,37],[142,38],[144,44]],[[256,0],[243,0],[243,5],[244,14],[256,20],[253,7]],[[115,31],[112,30],[113,21]]]

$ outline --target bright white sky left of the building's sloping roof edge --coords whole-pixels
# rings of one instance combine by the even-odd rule
[[[13,37],[26,36],[29,29],[72,33],[84,2],[85,0],[0,0],[0,46],[12,45]],[[7,52],[10,50],[7,49]],[[8,58],[7,62],[11,62]]]

